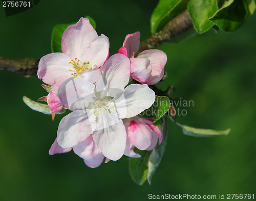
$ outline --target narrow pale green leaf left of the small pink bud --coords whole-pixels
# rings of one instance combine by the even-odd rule
[[[47,104],[41,104],[41,103],[32,101],[30,98],[28,98],[25,95],[23,96],[23,101],[32,110],[35,110],[37,112],[41,112],[41,113],[44,113],[44,114],[52,114],[52,111],[50,110],[50,108],[48,107]],[[62,114],[64,112],[66,112],[66,109],[62,108],[62,110],[57,112],[57,114]]]

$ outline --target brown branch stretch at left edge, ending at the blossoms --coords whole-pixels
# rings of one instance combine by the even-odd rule
[[[22,73],[26,77],[36,76],[39,59],[12,59],[0,57],[0,69]]]

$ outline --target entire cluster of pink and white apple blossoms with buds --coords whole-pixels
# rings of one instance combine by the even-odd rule
[[[139,44],[140,32],[128,34],[109,57],[109,38],[80,18],[63,33],[62,53],[40,59],[37,76],[50,85],[43,99],[53,114],[72,111],[61,119],[50,155],[73,149],[87,166],[98,167],[104,158],[106,163],[123,155],[140,157],[134,147],[151,150],[161,143],[162,130],[139,114],[155,102],[148,85],[162,79],[167,57],[157,49],[135,57]]]

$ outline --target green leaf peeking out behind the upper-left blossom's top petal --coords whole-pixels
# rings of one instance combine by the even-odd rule
[[[85,16],[84,18],[88,18],[90,20],[91,25],[93,28],[96,28],[96,22],[90,16]],[[72,23],[63,23],[57,24],[52,30],[52,39],[51,39],[51,49],[53,53],[61,53],[61,38],[64,31],[71,25],[76,24],[76,22]]]

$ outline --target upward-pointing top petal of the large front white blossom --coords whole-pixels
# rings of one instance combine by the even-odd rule
[[[102,79],[96,82],[97,91],[114,88],[123,90],[130,79],[130,60],[122,54],[115,54],[106,60],[100,71]]]

